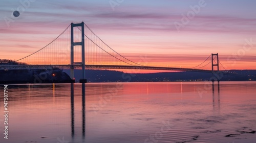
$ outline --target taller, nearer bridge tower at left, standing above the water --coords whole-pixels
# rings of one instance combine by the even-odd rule
[[[74,27],[81,27],[81,41],[80,42],[74,42]],[[71,68],[70,68],[70,76],[71,79],[74,79],[74,66],[75,65],[81,65],[82,66],[82,79],[80,79],[80,83],[86,83],[86,71],[85,71],[85,66],[86,66],[86,59],[85,59],[85,53],[84,53],[84,23],[71,23]],[[74,62],[74,47],[75,46],[81,46],[81,54],[82,54],[82,59],[81,62]]]

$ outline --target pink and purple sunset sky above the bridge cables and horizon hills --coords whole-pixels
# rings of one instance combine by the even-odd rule
[[[252,0],[3,0],[0,59],[32,54],[83,21],[127,59],[147,57],[148,66],[189,68],[219,53],[225,69],[256,69],[255,6]]]

